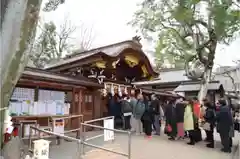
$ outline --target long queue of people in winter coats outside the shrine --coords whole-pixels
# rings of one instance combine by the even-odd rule
[[[200,105],[197,98],[179,96],[162,102],[155,94],[149,97],[140,91],[131,92],[130,96],[108,94],[108,97],[108,112],[110,116],[115,116],[115,127],[131,130],[136,135],[145,133],[147,138],[151,138],[152,134],[159,136],[162,123],[165,123],[164,133],[169,140],[188,138],[190,141],[187,144],[195,145],[202,141],[201,129],[204,129],[206,146],[214,148],[216,130],[221,137],[221,151],[230,153],[234,131],[240,132],[239,111],[233,113],[224,99],[216,103],[204,100]]]

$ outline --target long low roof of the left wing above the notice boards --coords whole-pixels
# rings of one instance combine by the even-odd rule
[[[31,67],[25,68],[24,72],[22,73],[21,79],[36,79],[49,82],[58,82],[62,84],[72,84],[76,86],[103,88],[103,85],[91,81],[90,79],[83,76],[78,76],[77,78],[68,77]]]

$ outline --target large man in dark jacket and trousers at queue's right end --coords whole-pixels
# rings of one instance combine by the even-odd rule
[[[217,113],[217,131],[220,134],[223,149],[221,151],[231,153],[231,129],[233,127],[233,117],[230,108],[225,100],[219,100],[220,108]]]

